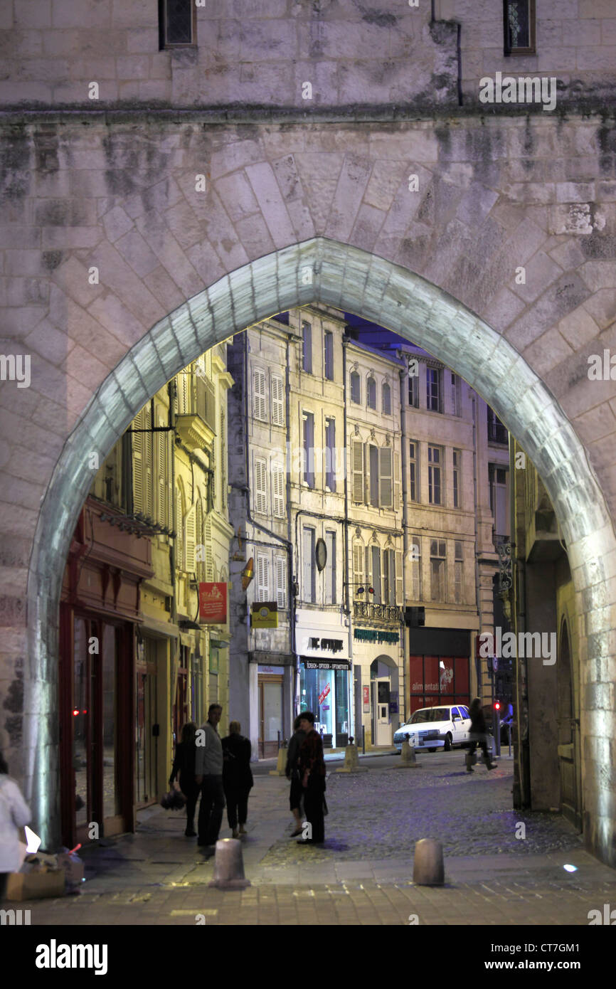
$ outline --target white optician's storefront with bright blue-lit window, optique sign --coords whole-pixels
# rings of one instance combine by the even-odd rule
[[[348,629],[333,612],[311,611],[304,617],[298,611],[298,617],[300,712],[312,711],[323,748],[344,748],[350,733]]]

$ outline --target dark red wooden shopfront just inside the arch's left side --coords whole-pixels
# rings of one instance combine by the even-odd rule
[[[70,848],[134,829],[135,629],[140,583],[153,575],[146,533],[88,497],[70,544],[59,640],[60,801]]]

